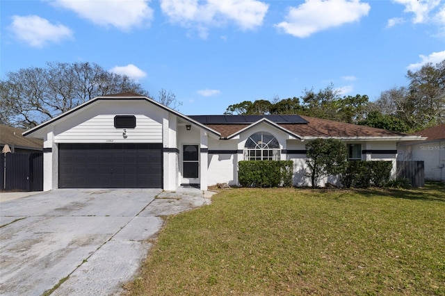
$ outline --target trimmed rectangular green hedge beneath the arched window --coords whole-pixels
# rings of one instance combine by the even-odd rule
[[[293,161],[240,161],[238,182],[243,187],[291,187]]]

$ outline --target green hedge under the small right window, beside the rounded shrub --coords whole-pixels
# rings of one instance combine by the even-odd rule
[[[383,187],[391,179],[391,169],[391,161],[350,161],[341,183],[347,188]]]

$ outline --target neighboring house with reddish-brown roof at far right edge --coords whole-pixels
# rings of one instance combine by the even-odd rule
[[[426,137],[424,142],[401,142],[399,161],[423,161],[425,179],[445,181],[445,124],[418,131],[414,135]]]

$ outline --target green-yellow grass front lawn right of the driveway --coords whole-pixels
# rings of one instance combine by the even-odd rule
[[[129,295],[445,295],[445,184],[233,189],[168,218]]]

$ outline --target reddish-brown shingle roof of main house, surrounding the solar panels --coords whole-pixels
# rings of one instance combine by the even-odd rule
[[[220,115],[216,115],[220,116]],[[242,116],[242,115],[228,115],[228,116]],[[261,116],[261,115],[258,115]],[[191,116],[196,120],[200,120],[198,116]],[[211,115],[206,116],[207,122],[214,122],[210,120]],[[322,120],[316,117],[299,116],[302,122],[289,123],[289,122],[275,122],[278,126],[286,131],[290,131],[297,138],[391,138],[391,139],[403,139],[403,140],[424,140],[418,135],[408,135],[407,133],[399,133],[396,131],[387,131],[385,129],[375,129],[369,126],[359,126],[357,124],[347,124],[344,122],[335,122],[333,120]],[[264,118],[268,119],[267,115]],[[241,122],[233,118],[230,122]],[[269,119],[273,122],[273,119]],[[261,122],[261,121],[259,121]],[[259,123],[257,122],[257,123]],[[202,122],[203,124],[206,124]],[[254,123],[254,124],[257,124]],[[231,138],[236,133],[247,129],[252,124],[250,123],[220,123],[220,124],[206,124],[211,129],[214,129],[221,133],[222,138]]]

